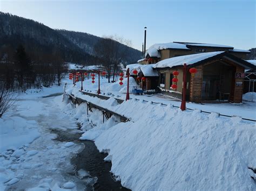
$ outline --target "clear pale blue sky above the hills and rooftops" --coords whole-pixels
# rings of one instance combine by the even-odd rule
[[[255,43],[255,0],[6,1],[0,11],[36,20],[53,29],[117,35],[142,50],[155,43],[186,41],[249,49]]]

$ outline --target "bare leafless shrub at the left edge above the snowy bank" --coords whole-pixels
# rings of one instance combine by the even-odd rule
[[[0,82],[0,118],[17,100],[17,92],[6,89],[6,83]]]

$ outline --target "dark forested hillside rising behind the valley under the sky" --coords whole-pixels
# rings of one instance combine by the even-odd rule
[[[12,55],[17,46],[22,44],[32,59],[44,60],[48,55],[58,52],[66,62],[97,64],[98,55],[93,53],[93,46],[99,39],[82,32],[53,30],[34,20],[0,12],[0,56]],[[137,61],[142,55],[131,47],[128,51],[130,56],[124,61],[129,63]]]

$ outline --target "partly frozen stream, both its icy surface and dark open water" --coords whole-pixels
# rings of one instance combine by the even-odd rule
[[[13,116],[35,121],[40,136],[20,148],[36,154],[12,161],[19,181],[6,190],[127,190],[111,175],[111,162],[103,160],[106,154],[99,153],[92,141],[79,140],[82,131],[75,119],[60,110],[56,100],[62,96],[55,96],[17,102]]]

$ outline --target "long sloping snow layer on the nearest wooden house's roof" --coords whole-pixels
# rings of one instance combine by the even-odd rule
[[[181,66],[184,63],[187,65],[192,65],[193,63],[197,63],[201,60],[205,60],[207,58],[211,58],[212,56],[224,53],[225,51],[220,52],[206,52],[206,53],[199,53],[199,54],[190,54],[184,56],[176,56],[173,58],[161,60],[157,62],[154,68],[166,68],[166,67],[173,67],[173,66]]]

